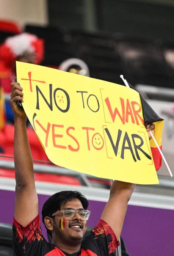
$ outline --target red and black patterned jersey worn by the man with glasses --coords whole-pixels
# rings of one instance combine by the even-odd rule
[[[83,240],[78,255],[110,256],[118,245],[119,242],[111,227],[100,220],[89,236]],[[42,236],[39,215],[26,227],[14,219],[13,248],[15,256],[66,256],[66,253],[48,243]]]

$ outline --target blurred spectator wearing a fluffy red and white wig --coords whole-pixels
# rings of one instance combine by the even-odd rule
[[[11,36],[0,46],[0,87],[5,94],[11,93],[11,82],[16,77],[16,61],[40,64],[44,57],[44,41],[37,36],[21,33]],[[5,101],[6,121],[14,123],[13,112]]]

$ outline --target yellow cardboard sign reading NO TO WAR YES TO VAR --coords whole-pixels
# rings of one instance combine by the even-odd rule
[[[97,177],[158,183],[135,90],[34,64],[16,67],[25,113],[53,163]]]

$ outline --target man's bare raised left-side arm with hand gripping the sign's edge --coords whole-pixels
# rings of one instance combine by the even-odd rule
[[[22,87],[11,83],[11,106],[14,112],[14,165],[16,177],[15,219],[26,226],[38,215],[38,196],[33,173],[33,160],[26,129],[26,115],[16,102],[23,102]]]

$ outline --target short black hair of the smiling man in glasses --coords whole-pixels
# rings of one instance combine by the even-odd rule
[[[80,200],[80,202],[82,203],[83,209],[86,210],[88,208],[88,200],[84,195],[82,195],[82,193],[78,191],[66,190],[66,191],[55,193],[54,195],[50,196],[50,198],[47,199],[47,201],[44,203],[42,207],[42,221],[44,225],[45,225],[44,218],[46,216],[53,218],[52,214],[60,210],[60,207],[62,206],[62,204],[64,205],[67,201],[71,201],[75,198]],[[46,226],[45,228],[47,229]],[[52,232],[49,229],[47,229],[47,233],[49,234],[49,236],[52,237]]]

